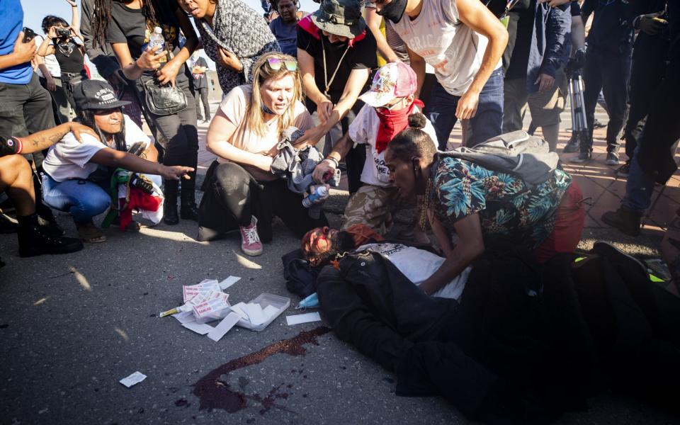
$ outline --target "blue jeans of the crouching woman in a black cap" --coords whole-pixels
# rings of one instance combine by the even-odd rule
[[[76,224],[91,222],[111,206],[111,196],[99,186],[87,180],[56,181],[42,174],[42,200],[46,205],[70,212]]]

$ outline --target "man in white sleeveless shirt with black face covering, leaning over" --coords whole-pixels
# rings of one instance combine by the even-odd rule
[[[435,69],[425,113],[437,133],[439,149],[456,120],[470,120],[477,145],[501,133],[503,72],[501,57],[508,42],[503,24],[479,0],[376,0],[378,14],[390,19],[409,52],[418,75],[418,94],[425,64]]]

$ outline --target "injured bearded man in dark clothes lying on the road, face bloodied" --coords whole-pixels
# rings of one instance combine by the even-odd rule
[[[563,253],[546,263],[517,246],[487,249],[446,297],[418,286],[443,257],[365,227],[313,229],[302,254],[325,264],[324,319],[395,373],[397,395],[517,422],[587,409],[613,386],[669,406],[680,395],[680,299],[604,242],[579,261]]]

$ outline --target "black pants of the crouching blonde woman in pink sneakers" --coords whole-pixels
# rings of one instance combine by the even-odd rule
[[[302,195],[293,193],[283,179],[256,181],[239,164],[213,162],[203,183],[200,202],[198,240],[219,239],[225,232],[247,226],[257,217],[257,230],[262,242],[272,239],[271,219],[280,217],[297,237],[307,230],[327,226],[323,214],[318,219],[309,216],[302,206]]]

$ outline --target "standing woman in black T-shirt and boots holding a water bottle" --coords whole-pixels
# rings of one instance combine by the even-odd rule
[[[111,45],[125,78],[135,81],[145,117],[156,133],[162,135],[157,137],[157,142],[163,147],[163,164],[196,168],[196,102],[189,89],[189,80],[193,77],[184,64],[199,41],[186,13],[176,0],[94,0],[93,11],[90,23],[94,45]],[[186,37],[183,43],[180,43],[180,33]],[[181,90],[186,97],[186,108],[171,113],[149,106],[147,91],[162,86]],[[192,171],[191,177],[182,182],[179,215],[178,182],[164,182],[166,225],[178,224],[180,217],[198,220],[196,172]]]

